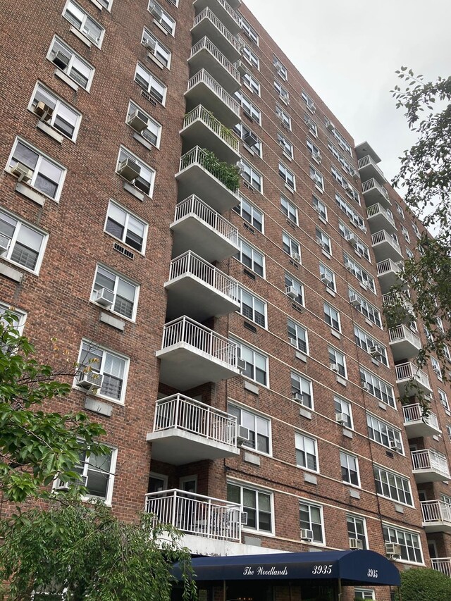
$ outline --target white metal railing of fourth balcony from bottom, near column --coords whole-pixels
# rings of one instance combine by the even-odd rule
[[[169,280],[180,278],[181,275],[193,275],[217,292],[238,302],[237,282],[190,250],[171,261]]]

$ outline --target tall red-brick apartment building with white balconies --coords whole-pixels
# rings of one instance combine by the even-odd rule
[[[421,224],[376,151],[240,0],[0,6],[0,307],[92,366],[54,406],[108,432],[90,494],[194,555],[451,576],[451,390],[420,320],[383,325]]]

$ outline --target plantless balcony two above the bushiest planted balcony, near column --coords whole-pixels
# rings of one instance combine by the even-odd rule
[[[188,80],[185,98],[189,111],[202,104],[227,128],[233,127],[240,120],[240,105],[205,69]]]

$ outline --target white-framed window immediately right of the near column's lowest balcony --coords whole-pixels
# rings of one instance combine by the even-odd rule
[[[247,513],[247,530],[262,532],[273,531],[273,495],[257,488],[249,488],[238,484],[228,483],[227,500],[242,505]]]

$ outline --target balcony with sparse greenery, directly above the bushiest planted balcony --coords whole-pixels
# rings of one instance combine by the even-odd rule
[[[237,137],[202,104],[187,113],[180,135],[183,137],[184,151],[200,146],[213,151],[221,161],[236,163],[240,160]]]

